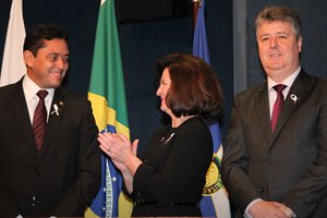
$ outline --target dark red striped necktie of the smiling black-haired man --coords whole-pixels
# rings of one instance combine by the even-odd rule
[[[34,111],[33,131],[36,142],[36,149],[39,150],[43,145],[47,128],[47,108],[45,105],[45,97],[48,95],[48,92],[39,90],[36,95],[39,97],[39,101]]]

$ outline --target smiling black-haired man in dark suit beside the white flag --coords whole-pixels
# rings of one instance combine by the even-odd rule
[[[68,59],[68,33],[35,26],[24,43],[26,75],[0,88],[0,217],[81,217],[99,189],[98,130],[90,104],[61,86]],[[33,128],[39,90],[45,134]]]

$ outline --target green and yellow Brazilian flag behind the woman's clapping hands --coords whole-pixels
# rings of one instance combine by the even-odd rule
[[[101,0],[87,96],[98,129],[130,138],[113,0]],[[101,160],[101,187],[85,217],[130,217],[132,203],[121,193],[122,177],[108,156],[102,154]]]

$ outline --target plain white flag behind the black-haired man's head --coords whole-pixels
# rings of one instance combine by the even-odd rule
[[[17,82],[26,72],[23,59],[25,26],[23,0],[12,0],[2,58],[0,86]]]

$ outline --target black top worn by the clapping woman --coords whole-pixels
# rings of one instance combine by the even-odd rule
[[[157,131],[134,175],[132,197],[136,206],[132,216],[201,216],[195,205],[201,201],[211,158],[211,135],[201,118]],[[143,202],[158,204],[138,204]]]

